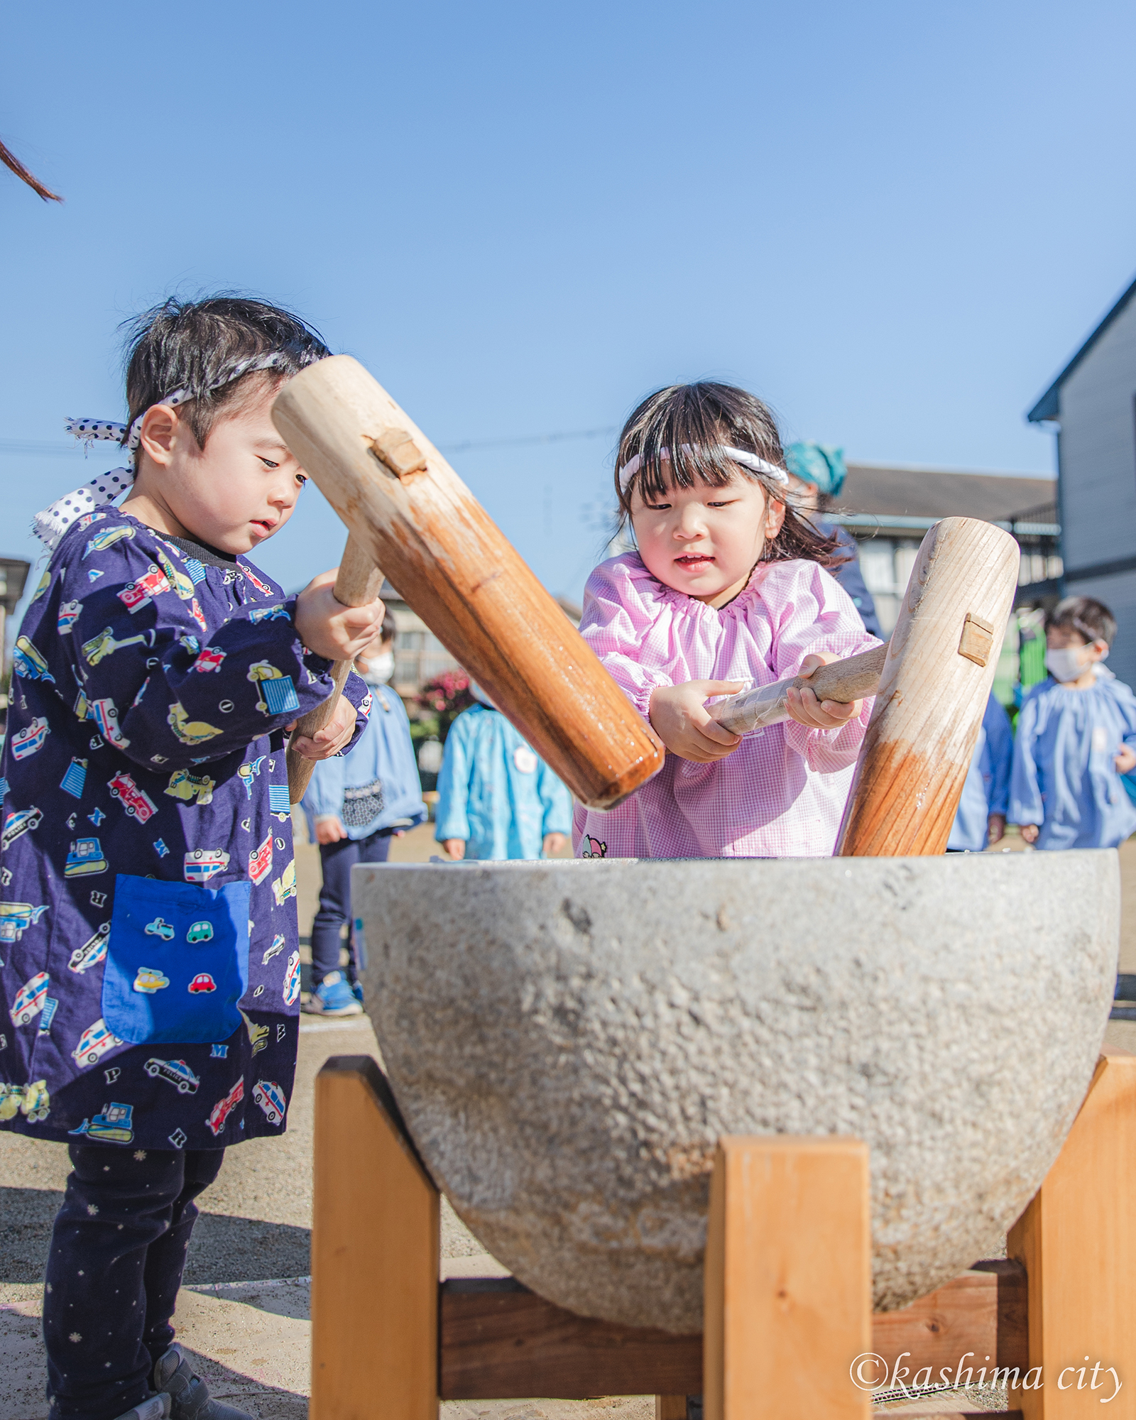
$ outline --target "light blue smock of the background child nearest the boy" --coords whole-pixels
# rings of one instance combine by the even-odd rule
[[[352,839],[426,822],[406,707],[389,686],[371,694],[371,720],[351,754],[320,760],[304,795],[310,824],[335,814]]]

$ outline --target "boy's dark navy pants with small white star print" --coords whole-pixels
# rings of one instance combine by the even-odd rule
[[[173,1340],[195,1198],[224,1149],[71,1145],[44,1288],[53,1420],[115,1420],[151,1394]]]

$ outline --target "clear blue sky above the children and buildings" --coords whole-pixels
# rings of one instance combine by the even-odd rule
[[[439,444],[606,429],[714,376],[852,459],[1051,471],[1024,410],[1136,270],[1120,0],[3,18],[0,135],[67,197],[0,172],[7,555],[114,462],[61,420],[122,416],[116,327],[168,293],[297,308]],[[578,596],[612,447],[452,457]],[[341,545],[312,488],[260,561],[294,588]]]

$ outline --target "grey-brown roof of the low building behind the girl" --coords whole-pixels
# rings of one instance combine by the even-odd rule
[[[1056,479],[1005,473],[961,473],[885,463],[849,463],[836,520],[856,527],[927,528],[947,517],[1012,523],[1022,513],[1049,510],[1055,521]]]

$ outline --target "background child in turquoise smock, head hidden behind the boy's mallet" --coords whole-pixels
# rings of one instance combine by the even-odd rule
[[[568,842],[572,798],[486,692],[470,692],[480,704],[446,736],[435,838],[450,858],[551,858]]]

